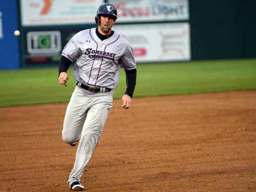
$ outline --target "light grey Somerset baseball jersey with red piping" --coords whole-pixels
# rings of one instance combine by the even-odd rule
[[[101,41],[96,28],[78,32],[62,51],[70,61],[77,62],[74,77],[77,81],[100,87],[115,88],[118,84],[120,67],[136,68],[132,47],[117,32]]]

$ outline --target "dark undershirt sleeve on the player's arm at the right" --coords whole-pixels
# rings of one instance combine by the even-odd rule
[[[137,77],[137,70],[132,69],[132,70],[126,70],[125,69],[125,74],[126,74],[126,92],[124,94],[130,96],[132,98],[135,85],[136,85],[136,77]]]

